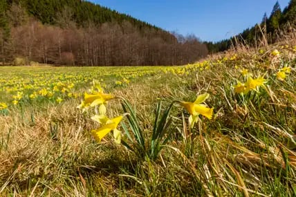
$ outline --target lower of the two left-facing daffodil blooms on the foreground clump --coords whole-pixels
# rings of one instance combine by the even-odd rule
[[[121,142],[121,134],[120,131],[118,131],[117,126],[122,120],[123,116],[120,115],[116,118],[113,118],[111,120],[107,120],[106,124],[104,126],[100,127],[99,129],[91,131],[93,134],[93,137],[97,142],[100,142],[102,138],[104,138],[105,135],[107,135],[110,131],[113,131],[113,137],[115,139],[115,142],[117,144],[120,144]]]

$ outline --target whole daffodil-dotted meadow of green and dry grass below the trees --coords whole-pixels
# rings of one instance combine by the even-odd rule
[[[0,196],[296,196],[295,65],[0,67]]]

